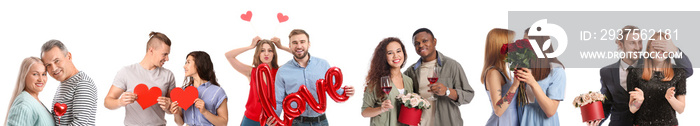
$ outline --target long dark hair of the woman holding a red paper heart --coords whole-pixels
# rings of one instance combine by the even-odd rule
[[[202,78],[202,80],[209,81],[209,83],[214,84],[216,86],[221,86],[219,85],[218,82],[216,82],[216,74],[214,74],[214,64],[211,63],[211,58],[209,58],[209,54],[203,51],[193,51],[187,54],[187,57],[192,56],[194,58],[194,65],[197,68],[197,75],[199,75],[199,78]],[[182,87],[187,87],[187,86],[192,86],[194,84],[194,79],[192,77],[185,77],[185,84],[182,85]]]

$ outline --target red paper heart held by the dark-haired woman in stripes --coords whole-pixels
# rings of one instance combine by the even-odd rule
[[[199,91],[197,91],[197,88],[194,86],[187,86],[185,90],[177,87],[170,91],[170,99],[172,99],[173,102],[177,102],[177,106],[185,110],[194,104],[194,100],[197,99],[198,96]]]

